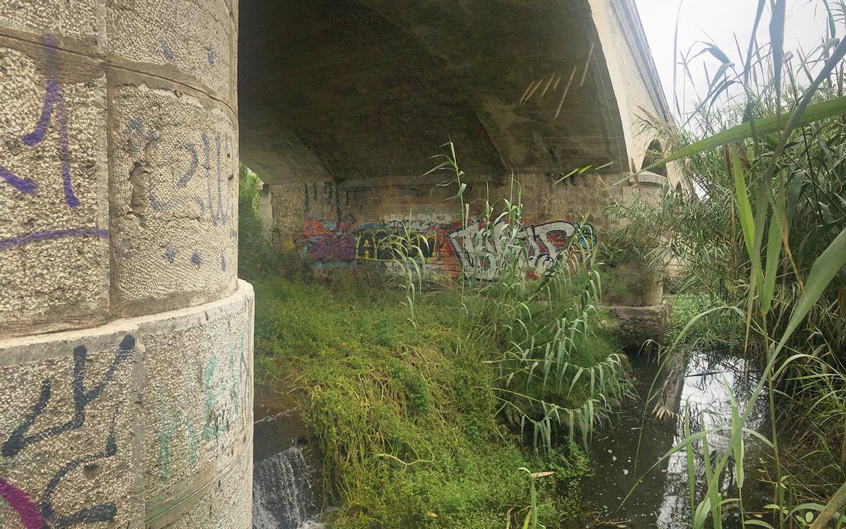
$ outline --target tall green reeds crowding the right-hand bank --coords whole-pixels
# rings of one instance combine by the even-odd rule
[[[653,262],[666,263],[670,256],[681,263],[684,289],[696,296],[689,300],[707,300],[706,311],[676,329],[674,347],[689,336],[735,344],[763,366],[750,400],[733,405],[728,447],[711,454],[706,447],[713,431],[702,431],[673,449],[701,443],[709,455],[706,497],[692,504],[695,527],[722,527],[729,509],[739,510],[749,526],[822,527],[838,520],[846,500],[837,493],[826,509],[816,503],[846,480],[841,464],[846,459],[846,100],[834,90],[843,84],[839,67],[846,41],[837,37],[834,11],[826,3],[829,35],[816,57],[794,64],[796,59],[783,50],[784,5],[783,0],[772,2],[771,42],[755,47],[751,41],[740,71],[725,53],[707,45],[706,52],[721,58],[722,67],[687,122],[691,129],[699,126],[698,133],[659,128],[677,146],[663,163],[684,159],[694,186],[665,190],[657,207],[635,202],[614,208],[629,220],[633,240],[651,236]],[[755,27],[765,7],[761,0]],[[803,83],[797,80],[800,74],[807,78]],[[729,96],[732,86],[743,90]],[[774,460],[770,521],[750,518],[743,502],[744,439],[753,434],[745,426],[765,387],[772,413],[766,443]],[[815,439],[814,482],[802,485],[784,466],[777,399],[793,420],[803,420],[798,433]],[[727,470],[729,460],[735,461],[733,471]],[[719,484],[726,474],[739,486],[737,499],[722,498]],[[832,481],[820,482],[824,476]],[[798,488],[801,493],[786,493]]]

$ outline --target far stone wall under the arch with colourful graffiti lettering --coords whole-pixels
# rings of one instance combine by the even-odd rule
[[[610,191],[596,175],[582,175],[563,182],[560,177],[526,174],[522,189],[525,244],[533,262],[551,262],[560,251],[592,248],[598,234],[607,231],[602,207]],[[464,228],[459,201],[451,200],[457,186],[437,187],[408,183],[336,183],[332,180],[299,180],[270,185],[272,230],[284,247],[299,252],[316,267],[386,263],[396,255],[397,236],[406,228],[422,260],[432,270],[458,276],[477,268],[470,248],[477,223]],[[471,217],[481,215],[483,202],[508,199],[510,182],[470,185],[464,200],[471,202]],[[416,251],[415,251],[416,252]],[[475,270],[481,277],[484,272]],[[481,274],[481,275],[480,275]]]

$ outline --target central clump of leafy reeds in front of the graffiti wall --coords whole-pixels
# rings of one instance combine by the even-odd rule
[[[479,278],[465,271],[460,284],[463,343],[495,344],[488,360],[496,366],[498,412],[530,434],[536,453],[550,456],[557,444],[573,449],[577,433],[586,449],[593,429],[630,393],[625,356],[599,330],[602,277],[596,253],[583,250],[574,236],[556,262],[533,263],[519,235],[519,182],[512,179],[508,198],[465,201],[455,147],[452,142],[444,147],[435,157],[442,162],[430,173],[448,172],[440,185],[456,190],[453,200],[470,234],[464,246],[485,263],[486,272]],[[481,215],[470,218],[475,209]],[[481,229],[467,229],[471,223]]]

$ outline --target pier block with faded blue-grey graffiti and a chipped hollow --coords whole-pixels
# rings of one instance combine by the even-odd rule
[[[238,262],[238,132],[219,102],[114,80],[112,300],[120,314],[232,292]]]

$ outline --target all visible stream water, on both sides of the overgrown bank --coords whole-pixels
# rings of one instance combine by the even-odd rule
[[[637,377],[636,398],[627,400],[624,410],[609,426],[597,431],[591,441],[591,477],[582,481],[585,508],[597,520],[613,521],[611,526],[642,529],[689,527],[687,460],[684,450],[657,462],[684,439],[684,405],[689,404],[694,432],[731,423],[731,399],[744,402],[755,388],[758,376],[741,359],[730,355],[694,354],[678,361],[674,369],[662,374],[657,362],[634,356],[632,366]],[[660,398],[645,405],[650,387],[664,388]],[[769,437],[769,409],[762,395],[753,409],[750,427]],[[664,418],[655,417],[656,402]],[[730,429],[708,438],[711,452],[722,454],[727,448]],[[749,438],[749,436],[747,436]],[[322,504],[321,457],[315,439],[299,417],[296,405],[285,395],[256,388],[255,455],[253,465],[254,529],[321,529],[317,522]],[[760,443],[746,444],[744,467],[747,509],[763,512],[772,503],[769,489],[755,479],[761,466]],[[705,466],[701,444],[695,444],[696,500],[705,493]],[[657,463],[656,463],[657,462]],[[729,461],[722,482],[723,498],[736,496],[733,461]],[[634,485],[640,480],[637,487]],[[726,529],[742,526],[739,512],[728,510]]]

